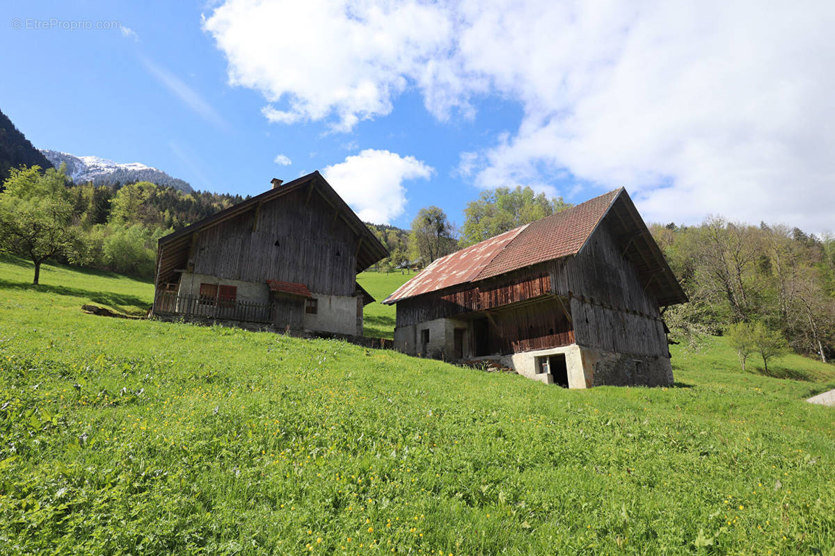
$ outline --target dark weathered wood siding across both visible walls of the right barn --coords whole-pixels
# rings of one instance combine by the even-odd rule
[[[564,298],[570,322],[549,293]],[[526,300],[533,301],[506,307]],[[573,342],[615,353],[668,353],[658,303],[605,223],[574,257],[403,300],[397,303],[397,327],[436,318],[471,318],[485,311],[493,318],[488,327],[492,353]],[[474,342],[473,338],[473,347]]]

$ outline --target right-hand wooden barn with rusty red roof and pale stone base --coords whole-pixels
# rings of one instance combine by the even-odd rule
[[[589,388],[672,384],[661,308],[684,302],[621,188],[439,258],[382,303],[404,353]]]

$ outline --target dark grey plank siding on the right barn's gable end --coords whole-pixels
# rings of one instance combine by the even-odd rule
[[[658,303],[621,253],[601,225],[582,253],[560,265],[558,273],[571,295],[574,338],[580,345],[615,353],[666,355]]]

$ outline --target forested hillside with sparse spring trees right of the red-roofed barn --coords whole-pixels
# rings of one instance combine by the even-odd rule
[[[651,231],[690,298],[665,313],[681,341],[760,322],[798,352],[835,356],[835,238],[721,217]]]

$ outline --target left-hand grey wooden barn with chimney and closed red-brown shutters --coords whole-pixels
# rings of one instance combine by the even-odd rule
[[[159,240],[154,315],[362,336],[357,273],[388,252],[314,172]]]

